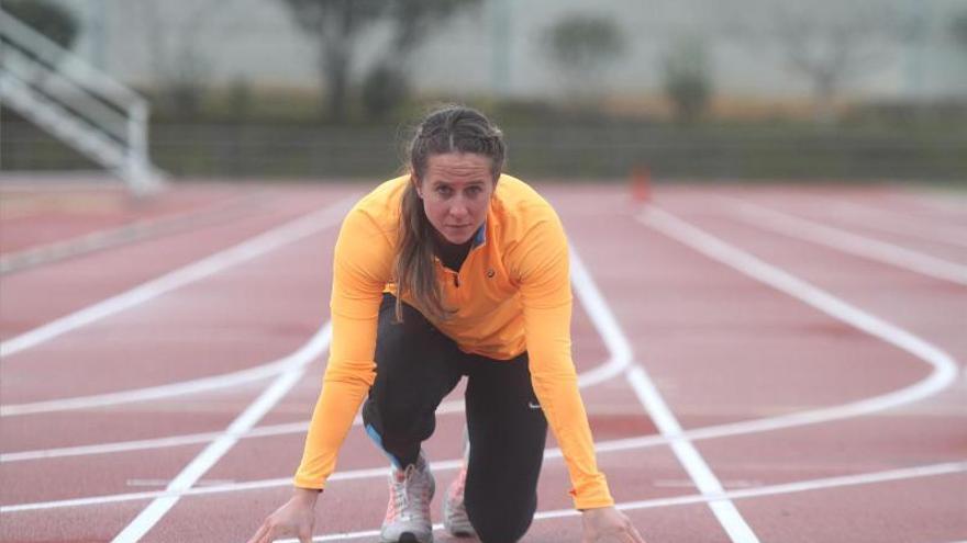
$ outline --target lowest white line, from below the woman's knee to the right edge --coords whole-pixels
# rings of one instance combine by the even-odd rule
[[[967,472],[967,462],[952,462],[945,464],[932,464],[926,466],[916,466],[902,470],[891,470],[888,472],[866,473],[859,475],[846,475],[842,477],[827,477],[821,479],[802,480],[783,485],[770,485],[756,488],[732,490],[723,493],[720,497],[710,497],[702,494],[689,496],[676,496],[674,498],[653,498],[641,501],[625,501],[615,504],[615,507],[622,511],[637,511],[643,509],[658,509],[663,507],[689,506],[698,504],[711,504],[713,500],[730,499],[751,499],[766,496],[778,496],[793,493],[804,493],[811,490],[823,490],[830,488],[842,488],[849,486],[872,485],[877,483],[891,483],[897,480],[905,480],[920,477],[937,477],[941,475],[952,475]],[[538,511],[534,516],[534,521],[560,519],[566,517],[577,517],[580,511],[575,509],[557,509],[551,511]],[[433,524],[433,530],[443,530],[442,524]],[[647,533],[647,530],[645,530]],[[364,530],[358,532],[330,533],[325,535],[316,535],[312,541],[345,541],[363,538],[374,538],[379,535],[379,530]],[[299,543],[298,540],[279,540],[278,543]]]

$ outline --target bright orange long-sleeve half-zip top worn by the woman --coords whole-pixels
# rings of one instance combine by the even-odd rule
[[[394,292],[400,202],[409,177],[364,196],[343,222],[333,262],[332,344],[294,484],[323,488],[338,449],[376,377],[384,292]],[[614,504],[598,470],[570,352],[567,238],[552,206],[524,182],[501,176],[482,229],[459,272],[438,260],[447,320],[431,321],[462,350],[511,360],[527,351],[534,392],[570,475],[575,507]],[[412,298],[403,301],[419,308]]]

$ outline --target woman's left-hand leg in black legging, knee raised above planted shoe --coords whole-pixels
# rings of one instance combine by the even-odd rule
[[[416,462],[420,443],[436,428],[436,407],[456,386],[467,357],[456,343],[413,307],[403,304],[403,321],[393,314],[396,298],[379,308],[376,382],[363,406],[370,438],[397,468]]]

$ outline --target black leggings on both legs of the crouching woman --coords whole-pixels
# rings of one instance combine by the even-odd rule
[[[484,543],[520,540],[537,509],[547,437],[526,353],[512,361],[467,354],[409,305],[397,323],[394,303],[385,295],[379,308],[376,382],[363,406],[367,431],[399,466],[415,462],[436,428],[436,407],[466,375],[467,514]]]

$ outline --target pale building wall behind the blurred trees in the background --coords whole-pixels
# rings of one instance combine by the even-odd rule
[[[257,86],[315,88],[314,44],[281,0],[59,0],[78,13],[85,33],[78,50],[129,82],[152,86],[191,67],[211,84],[245,79]],[[762,0],[759,0],[760,2]],[[779,1],[779,0],[767,0]],[[785,1],[785,0],[783,0]],[[859,0],[813,0],[816,9]],[[849,90],[880,97],[967,94],[967,53],[947,33],[963,0],[880,0],[925,30],[921,42],[897,44],[882,66],[858,76]],[[660,88],[660,58],[683,33],[708,36],[715,88],[736,95],[805,97],[808,81],[790,72],[776,47],[749,47],[722,30],[729,18],[762,18],[757,0],[485,0],[429,39],[413,63],[420,90],[520,98],[562,93],[560,77],[542,52],[543,32],[575,12],[612,16],[629,50],[600,76],[600,88],[619,95]],[[758,10],[758,11],[756,11]],[[386,32],[367,34],[355,76],[378,55]]]

